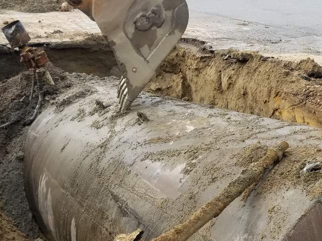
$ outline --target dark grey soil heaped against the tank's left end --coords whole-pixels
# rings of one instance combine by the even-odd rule
[[[59,93],[67,91],[75,82],[74,79],[68,78],[67,74],[53,67],[52,64],[48,64],[47,69],[53,77],[55,86],[45,88],[43,108],[50,101],[54,101]],[[20,240],[18,238],[34,240],[39,236],[44,238],[38,225],[33,220],[25,197],[23,182],[24,145],[29,129],[27,122],[37,105],[38,93],[36,91],[31,104],[28,101],[23,101],[22,98],[30,95],[32,75],[32,71],[25,71],[0,83],[2,93],[0,97],[2,103],[0,106],[0,125],[14,122],[8,128],[0,129],[0,176],[2,177],[0,179],[0,205],[4,213],[2,222],[8,222],[9,219],[6,216],[10,217],[14,220],[17,228],[26,234],[25,236],[21,236],[19,232],[12,234],[13,236],[17,235],[17,240]],[[81,83],[82,79],[79,78],[78,82]],[[86,94],[88,93],[84,93],[83,96]],[[72,98],[70,102],[72,102]],[[5,224],[3,226],[6,227]],[[7,227],[2,232],[6,233],[12,230],[14,230],[12,224],[8,222]],[[14,240],[10,239],[11,234],[8,234],[9,236],[4,235],[8,240]]]

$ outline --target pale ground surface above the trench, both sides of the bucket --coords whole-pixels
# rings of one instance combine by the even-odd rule
[[[205,40],[215,49],[255,50],[322,64],[322,2],[317,0],[187,0],[190,21],[184,37]],[[33,42],[79,40],[100,33],[79,11],[26,14],[0,11],[5,21],[20,19]],[[40,21],[40,23],[39,23]],[[57,31],[59,30],[59,31]],[[0,44],[7,43],[0,35]]]

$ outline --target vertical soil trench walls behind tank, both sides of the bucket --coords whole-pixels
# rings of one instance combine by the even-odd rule
[[[322,127],[322,68],[314,60],[292,62],[256,52],[210,48],[201,41],[183,39],[146,90],[194,103]],[[66,72],[100,77],[120,75],[113,52],[102,41],[95,45],[48,44],[45,50],[50,61]],[[5,60],[0,63],[3,79],[24,70],[17,54],[7,52],[2,54],[2,59]]]

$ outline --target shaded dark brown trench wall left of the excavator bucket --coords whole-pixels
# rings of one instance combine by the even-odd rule
[[[82,41],[31,44],[31,47],[42,48],[48,58],[58,68],[68,73],[87,73],[105,77],[119,75],[112,49],[103,36],[91,35]],[[18,75],[25,70],[20,63],[19,51],[10,51],[0,45],[0,82]]]

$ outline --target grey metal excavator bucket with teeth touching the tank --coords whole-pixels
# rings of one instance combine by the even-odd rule
[[[185,0],[70,0],[94,20],[113,48],[122,72],[120,110],[137,98],[184,34]]]

